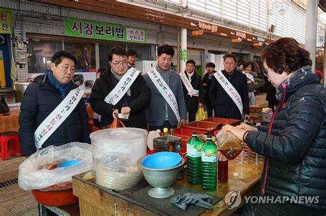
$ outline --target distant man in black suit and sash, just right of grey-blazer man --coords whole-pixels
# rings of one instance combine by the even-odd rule
[[[184,90],[184,101],[186,102],[186,110],[188,112],[189,122],[195,121],[196,112],[198,108],[204,106],[204,88],[202,86],[202,77],[195,71],[196,62],[194,60],[188,60],[186,62],[186,78],[190,81],[194,90],[197,90],[197,95],[191,95],[182,81],[182,88]]]

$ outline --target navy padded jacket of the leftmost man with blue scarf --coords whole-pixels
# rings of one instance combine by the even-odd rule
[[[78,86],[72,84],[70,90]],[[59,91],[48,82],[47,73],[34,79],[24,93],[19,115],[19,140],[23,156],[36,152],[34,131],[63,101]],[[91,143],[89,139],[88,114],[84,99],[80,99],[76,108],[43,143],[42,147],[63,145],[70,142]]]

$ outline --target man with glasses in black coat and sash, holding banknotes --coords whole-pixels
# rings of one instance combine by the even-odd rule
[[[116,114],[129,115],[127,127],[147,129],[145,110],[151,103],[151,90],[140,71],[129,68],[128,53],[122,47],[109,52],[109,68],[91,89],[90,104],[100,115],[100,128],[107,127]]]

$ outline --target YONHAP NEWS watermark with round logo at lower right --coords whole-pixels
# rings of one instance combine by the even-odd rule
[[[240,191],[229,191],[224,197],[226,207],[228,209],[236,208],[244,199],[246,204],[282,204],[285,202],[293,204],[318,204],[319,196],[243,196],[241,197]]]

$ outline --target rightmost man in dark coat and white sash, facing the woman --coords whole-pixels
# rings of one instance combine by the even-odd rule
[[[249,118],[247,77],[236,67],[237,58],[228,53],[224,56],[224,70],[214,74],[209,97],[215,117]]]

